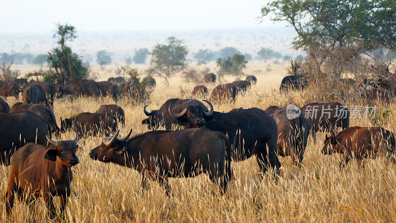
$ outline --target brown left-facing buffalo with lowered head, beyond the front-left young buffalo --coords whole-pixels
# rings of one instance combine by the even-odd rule
[[[69,129],[77,132],[80,137],[101,133],[108,136],[117,130],[117,119],[111,114],[97,112],[83,112],[64,120],[60,117],[60,131],[65,132]]]

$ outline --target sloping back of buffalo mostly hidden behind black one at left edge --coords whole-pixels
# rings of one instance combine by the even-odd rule
[[[37,115],[39,115],[41,118],[46,120],[49,123],[49,126],[51,128],[51,132],[58,137],[60,135],[60,129],[58,125],[56,124],[56,118],[53,112],[40,104],[25,104],[22,102],[15,103],[11,109],[9,110],[10,113],[16,113],[16,112],[23,112],[23,111],[30,111],[33,112]]]

